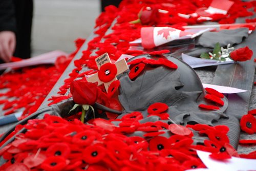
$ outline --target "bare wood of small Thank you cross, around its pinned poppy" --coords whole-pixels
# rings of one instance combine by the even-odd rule
[[[103,55],[95,58],[95,61],[97,63],[97,67],[98,67],[99,70],[100,70],[100,67],[103,66],[104,64],[109,63],[109,62],[111,63],[111,60],[110,60],[110,57],[109,57],[108,53],[104,53]],[[116,76],[129,69],[125,59],[121,59],[121,60],[115,62],[115,66],[116,66],[116,69],[117,69]],[[106,70],[105,74],[106,75],[110,74],[109,72],[110,72],[109,70]],[[88,82],[98,82],[98,85],[101,85],[103,83],[104,86],[105,86],[106,91],[108,91],[108,88],[109,88],[110,84],[113,81],[117,80],[116,76],[114,77],[114,79],[112,79],[109,82],[103,82],[99,79],[98,73],[96,73],[96,74],[92,75],[91,77],[87,78],[87,81]]]

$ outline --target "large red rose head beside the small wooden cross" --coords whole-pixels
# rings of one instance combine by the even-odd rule
[[[86,80],[74,80],[70,85],[74,102],[77,104],[94,104],[98,95],[97,84]]]

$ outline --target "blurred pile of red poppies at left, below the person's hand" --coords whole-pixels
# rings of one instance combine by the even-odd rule
[[[69,56],[59,56],[55,66],[41,65],[16,69],[0,75],[0,104],[3,104],[4,115],[23,111],[22,118],[34,113],[54,84],[77,53],[84,39],[77,39],[77,50]]]

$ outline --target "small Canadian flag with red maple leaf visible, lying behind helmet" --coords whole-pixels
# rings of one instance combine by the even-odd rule
[[[172,27],[142,27],[140,34],[143,48],[151,49],[184,36],[192,37],[195,33]]]

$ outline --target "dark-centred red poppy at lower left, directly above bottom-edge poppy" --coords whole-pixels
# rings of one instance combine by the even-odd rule
[[[47,156],[61,156],[64,158],[67,158],[70,154],[70,147],[67,143],[61,142],[61,143],[55,143],[46,151]]]

